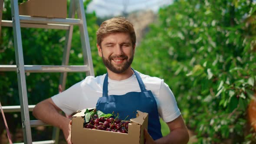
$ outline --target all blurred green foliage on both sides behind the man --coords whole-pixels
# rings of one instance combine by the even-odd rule
[[[85,10],[90,1],[84,2]],[[10,0],[4,3],[3,20],[10,20]],[[174,0],[159,10],[157,22],[136,48],[132,67],[170,86],[194,143],[255,143],[247,118],[256,92],[255,5],[254,0]],[[95,75],[102,75],[106,70],[95,34],[99,19],[95,13],[86,13],[86,19]],[[21,32],[26,65],[61,65],[65,30],[22,28]],[[0,65],[9,64],[15,65],[13,30],[2,27]],[[76,26],[69,64],[83,64]],[[26,73],[29,104],[56,95],[59,77],[59,73]],[[84,73],[69,73],[66,88],[84,78]],[[0,101],[4,106],[20,105],[16,72],[0,72]],[[15,122],[10,128],[15,133],[20,114],[8,115]],[[33,137],[40,139],[42,134]]]

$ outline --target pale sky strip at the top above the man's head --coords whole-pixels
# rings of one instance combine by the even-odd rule
[[[153,10],[170,5],[173,0],[92,0],[87,7],[88,12],[95,11],[97,16],[117,16],[122,12],[135,10]]]

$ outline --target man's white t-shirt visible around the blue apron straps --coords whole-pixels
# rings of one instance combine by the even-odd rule
[[[153,93],[157,101],[159,116],[165,122],[173,121],[181,115],[174,95],[163,79],[138,73],[146,90],[151,90]],[[87,76],[66,91],[54,95],[53,102],[67,115],[84,108],[95,108],[98,98],[102,97],[105,75]],[[128,92],[141,92],[135,74],[121,81],[108,78],[108,95],[125,95]]]

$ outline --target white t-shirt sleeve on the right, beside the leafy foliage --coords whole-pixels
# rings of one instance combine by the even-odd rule
[[[165,122],[173,121],[181,115],[174,94],[164,80],[159,91],[159,113]]]

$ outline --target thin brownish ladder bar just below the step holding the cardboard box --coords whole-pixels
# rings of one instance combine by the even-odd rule
[[[13,21],[2,20],[2,26],[12,27]],[[27,28],[44,28],[44,29],[69,29],[70,25],[66,24],[35,24],[35,23],[20,23],[20,27]]]

